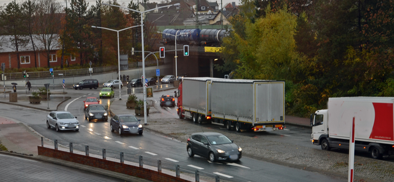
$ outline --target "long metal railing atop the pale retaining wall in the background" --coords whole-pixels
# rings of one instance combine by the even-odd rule
[[[159,60],[159,65],[163,64],[164,60]],[[145,61],[146,66],[153,66],[157,65],[157,61]],[[138,67],[138,62],[130,62],[129,63],[129,69],[130,68],[136,68]],[[93,74],[95,73],[103,73],[103,72],[109,72],[109,71],[117,71],[118,70],[118,65],[111,65],[111,66],[102,66],[102,67],[93,67]],[[29,74],[29,78],[48,78],[52,77],[51,73],[48,71],[38,71],[38,72],[27,72]],[[53,75],[58,76],[59,74],[63,75],[89,75],[89,68],[83,68],[83,69],[69,69],[69,70],[53,70]],[[5,76],[7,79],[22,79],[23,73],[18,72],[18,73],[5,73]]]

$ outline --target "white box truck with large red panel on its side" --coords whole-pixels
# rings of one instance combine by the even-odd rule
[[[394,97],[328,98],[328,109],[311,115],[312,144],[349,149],[355,118],[355,151],[372,158],[394,154]]]

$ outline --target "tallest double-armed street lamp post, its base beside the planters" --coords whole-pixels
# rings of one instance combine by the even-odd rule
[[[146,12],[149,12],[149,11],[154,11],[156,9],[164,8],[164,7],[179,6],[180,3],[175,3],[175,4],[171,4],[171,5],[161,6],[161,7],[149,9],[149,10],[146,10],[146,11],[137,11],[137,10],[134,10],[134,9],[130,9],[130,8],[127,8],[127,7],[122,7],[122,6],[118,6],[118,5],[114,5],[114,4],[107,4],[107,3],[102,3],[102,4],[103,5],[109,5],[109,6],[115,6],[115,7],[119,7],[119,8],[125,8],[127,10],[134,11],[136,13],[140,13],[141,14],[142,76],[143,76],[143,78],[146,79],[146,77],[145,77],[145,57],[144,57],[144,22],[143,22],[142,14],[146,13]],[[146,89],[145,89],[145,84],[142,84],[142,85],[143,85],[143,91],[144,91],[144,124],[146,125],[147,124],[147,122],[146,122]]]

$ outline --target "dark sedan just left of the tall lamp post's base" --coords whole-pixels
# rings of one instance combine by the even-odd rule
[[[119,135],[122,135],[123,133],[138,133],[139,135],[142,135],[144,128],[139,121],[140,120],[138,120],[134,115],[115,115],[111,118],[110,129],[111,132],[118,130]]]

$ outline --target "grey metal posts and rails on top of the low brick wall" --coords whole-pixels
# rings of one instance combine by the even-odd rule
[[[138,155],[136,153],[119,152],[119,151],[102,149],[99,147],[93,147],[93,146],[88,146],[88,145],[84,145],[84,144],[66,142],[66,141],[61,141],[61,140],[53,140],[53,142],[54,142],[54,149],[55,150],[59,150],[59,145],[61,145],[61,146],[65,146],[66,148],[68,148],[70,153],[79,152],[79,154],[84,153],[86,156],[96,156],[96,157],[101,156],[102,159],[107,159],[110,157],[110,158],[118,159],[119,163],[122,163],[122,164],[125,163],[125,161],[131,162],[131,163],[137,163],[139,165],[139,167],[141,167],[141,168],[144,165],[157,166],[158,172],[162,172],[162,168],[167,169],[167,170],[174,170],[175,176],[177,178],[180,178],[180,172],[188,173],[188,174],[194,173],[196,182],[199,182],[200,176],[204,176],[204,177],[207,177],[210,179],[215,179],[215,182],[220,182],[220,177],[215,174],[207,173],[204,171],[199,171],[199,170],[197,170],[193,167],[190,167],[190,166],[180,166],[175,163],[168,162],[167,160],[162,160],[159,156],[156,158],[152,158],[152,157]],[[43,137],[41,137],[41,147],[44,147]],[[66,149],[64,149],[64,150],[66,150]],[[92,155],[90,155],[90,154],[92,154]]]

